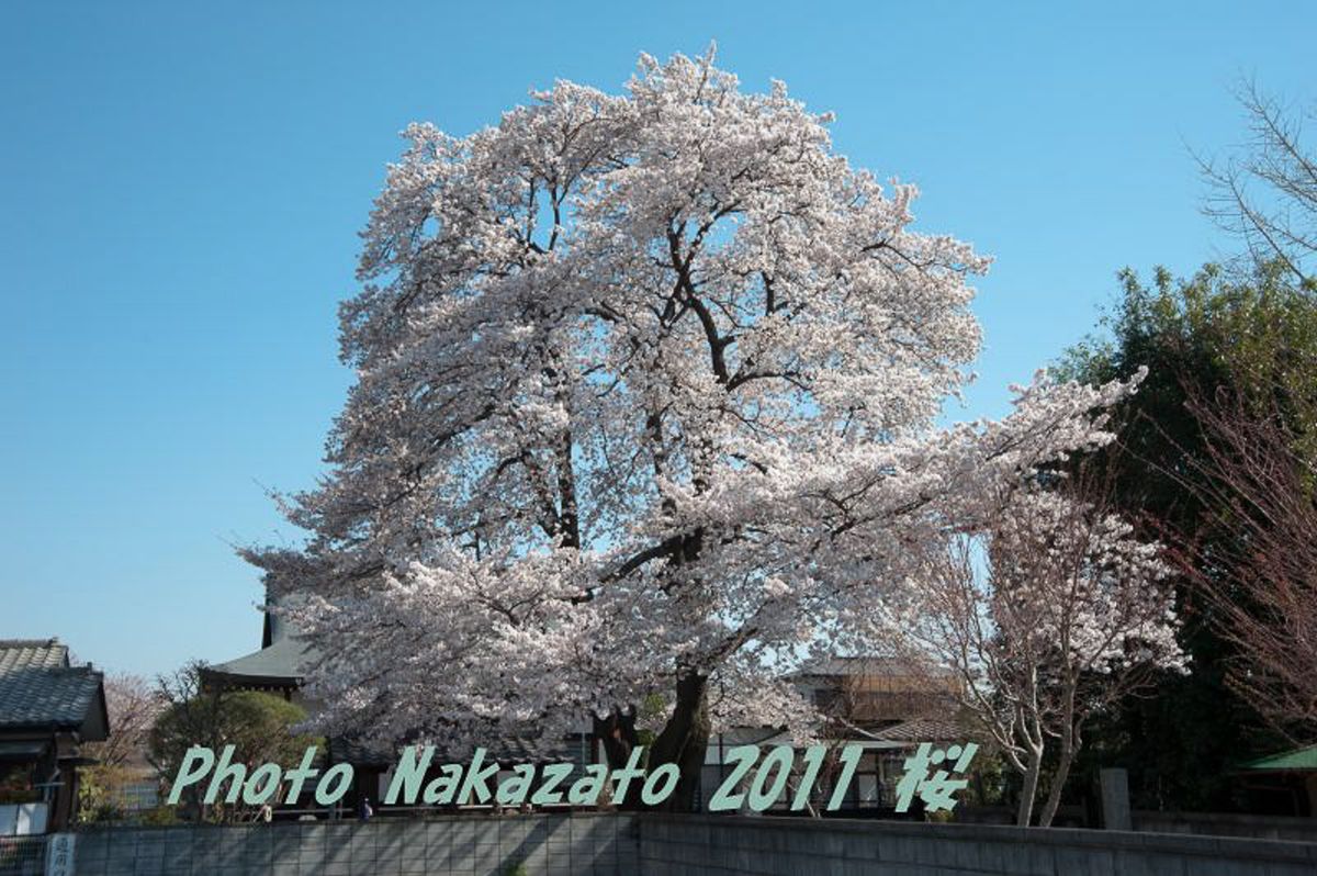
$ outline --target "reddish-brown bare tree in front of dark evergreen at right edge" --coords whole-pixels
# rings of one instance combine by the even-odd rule
[[[1291,738],[1317,734],[1317,466],[1277,406],[1191,395],[1205,453],[1183,483],[1217,508],[1173,556],[1237,656],[1227,682]]]

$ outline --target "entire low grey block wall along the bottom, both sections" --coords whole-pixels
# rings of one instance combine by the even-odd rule
[[[42,838],[21,838],[37,842]],[[40,846],[4,876],[42,873]],[[1312,876],[1317,843],[990,825],[574,813],[78,834],[76,876]]]

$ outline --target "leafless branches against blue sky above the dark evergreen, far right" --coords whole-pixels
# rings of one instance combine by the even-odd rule
[[[1280,263],[1317,290],[1317,154],[1303,126],[1317,108],[1291,112],[1255,83],[1239,91],[1250,140],[1225,161],[1200,158],[1210,194],[1205,212],[1238,234],[1258,263]]]

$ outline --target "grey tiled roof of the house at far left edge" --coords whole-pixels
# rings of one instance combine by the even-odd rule
[[[0,728],[82,728],[99,732],[101,673],[70,667],[68,647],[54,639],[0,640]]]

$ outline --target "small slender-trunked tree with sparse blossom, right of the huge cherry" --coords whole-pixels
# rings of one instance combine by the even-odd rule
[[[1048,826],[1084,723],[1179,665],[1168,566],[1109,512],[1105,482],[1080,472],[1002,498],[988,531],[956,535],[894,618],[911,660],[952,668],[960,705],[1019,773],[1017,823],[1033,821],[1044,763]]]

